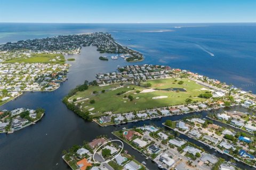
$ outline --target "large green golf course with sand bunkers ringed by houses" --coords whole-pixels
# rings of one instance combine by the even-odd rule
[[[133,84],[126,84],[122,88],[119,84],[111,84],[109,86],[92,86],[88,90],[77,92],[77,94],[72,97],[74,98],[89,98],[89,100],[77,101],[76,103],[81,103],[84,111],[90,108],[94,108],[92,113],[101,114],[103,112],[112,111],[113,113],[126,113],[130,111],[140,111],[148,108],[164,107],[164,106],[174,106],[186,104],[185,99],[190,98],[193,101],[205,101],[205,99],[198,98],[199,94],[205,92],[201,88],[205,88],[194,81],[189,79],[182,79],[183,84],[178,84],[174,81],[174,78],[161,79],[161,80],[150,80],[145,83],[141,83],[141,86],[135,86]],[[147,88],[143,87],[144,84],[151,83],[151,89],[157,89],[153,92],[140,92],[139,94],[134,94],[137,90],[142,91]],[[113,90],[113,88],[116,88]],[[173,91],[166,90],[170,88],[185,89],[186,91]],[[101,93],[101,90],[106,90],[105,93]],[[97,91],[93,94],[93,91]],[[125,94],[116,95],[118,92],[125,91]],[[124,96],[133,96],[133,100],[130,101]],[[166,98],[153,99],[157,96],[167,96]],[[190,97],[191,96],[191,97]],[[95,100],[94,104],[90,103],[90,100]]]

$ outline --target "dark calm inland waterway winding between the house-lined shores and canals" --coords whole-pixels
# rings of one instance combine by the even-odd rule
[[[132,128],[133,126],[152,123],[162,126],[162,123],[167,119],[179,120],[187,116],[171,116],[101,128],[98,124],[86,122],[69,111],[61,99],[68,94],[70,89],[76,87],[77,84],[82,84],[84,80],[94,80],[96,73],[112,72],[115,71],[117,65],[128,64],[122,59],[101,61],[99,60],[101,55],[96,47],[84,47],[80,55],[66,56],[66,58],[75,58],[75,61],[68,62],[71,64],[68,80],[62,82],[59,89],[52,92],[26,92],[14,101],[0,107],[0,109],[9,110],[18,107],[42,107],[45,109],[44,117],[35,125],[12,134],[0,134],[1,169],[16,169],[17,167],[20,169],[70,169],[61,158],[64,149],[82,144],[84,140],[91,141],[98,135],[108,135],[108,137],[116,139],[111,132],[124,127]],[[205,116],[210,112],[199,114]],[[181,138],[186,139],[183,135],[181,135]],[[145,160],[145,157],[142,157],[138,151],[133,150],[126,144],[124,148],[129,154],[134,155],[139,162],[145,161],[149,169],[157,169],[154,163]],[[212,150],[206,149],[212,152]],[[243,164],[238,164],[238,166],[246,168]],[[249,168],[247,167],[247,169]]]

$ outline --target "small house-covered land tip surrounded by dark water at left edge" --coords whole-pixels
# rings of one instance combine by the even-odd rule
[[[17,108],[0,111],[0,133],[13,133],[41,120],[44,109]]]

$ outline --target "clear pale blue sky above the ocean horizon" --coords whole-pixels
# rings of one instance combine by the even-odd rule
[[[0,22],[256,22],[256,0],[0,0]]]

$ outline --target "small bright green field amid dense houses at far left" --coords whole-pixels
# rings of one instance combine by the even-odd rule
[[[56,57],[59,56],[60,60],[58,60]],[[52,61],[55,60],[55,61]],[[65,58],[62,54],[31,54],[31,57],[21,57],[21,58],[15,58],[13,60],[8,60],[3,63],[59,63],[63,64],[65,63]]]

